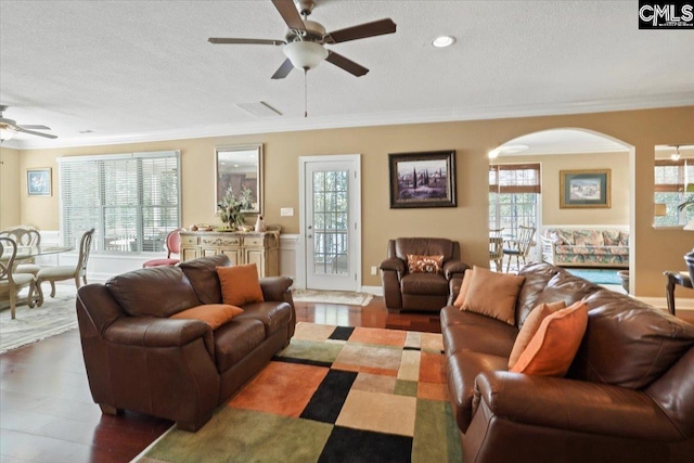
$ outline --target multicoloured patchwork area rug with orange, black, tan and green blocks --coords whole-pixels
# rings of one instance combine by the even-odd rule
[[[298,323],[291,345],[197,433],[136,461],[460,462],[441,335]]]

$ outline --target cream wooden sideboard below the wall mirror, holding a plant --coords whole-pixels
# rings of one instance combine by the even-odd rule
[[[279,232],[181,232],[181,260],[226,254],[232,265],[255,263],[259,276],[280,274]]]

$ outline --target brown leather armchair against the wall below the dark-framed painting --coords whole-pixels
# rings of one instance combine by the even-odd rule
[[[441,272],[410,273],[408,254],[444,256]],[[381,262],[383,296],[388,311],[441,310],[449,296],[449,282],[463,278],[470,267],[460,261],[460,244],[441,237],[399,237],[388,241],[387,258]]]

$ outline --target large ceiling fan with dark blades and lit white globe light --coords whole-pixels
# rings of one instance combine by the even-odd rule
[[[386,18],[326,33],[325,27],[321,24],[307,20],[316,7],[313,0],[296,0],[296,5],[294,0],[272,0],[272,4],[290,28],[284,40],[210,37],[208,41],[221,44],[283,46],[282,51],[286,55],[286,60],[272,75],[273,79],[285,78],[293,67],[307,72],[318,66],[323,60],[360,77],[369,69],[342,54],[327,50],[324,44],[382,36],[393,34],[396,30],[396,24],[393,20]],[[301,16],[304,17],[301,18]]]

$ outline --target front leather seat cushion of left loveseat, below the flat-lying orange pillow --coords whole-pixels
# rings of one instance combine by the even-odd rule
[[[241,316],[215,330],[215,361],[223,373],[243,360],[265,340],[265,326],[257,319]]]

